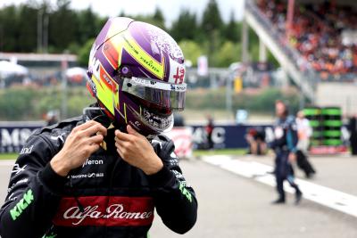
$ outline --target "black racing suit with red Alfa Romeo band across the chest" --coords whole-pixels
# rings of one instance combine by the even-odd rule
[[[87,112],[29,136],[0,209],[3,238],[146,237],[154,208],[176,233],[184,234],[195,225],[195,192],[182,176],[174,144],[163,135],[152,140],[164,164],[152,176],[120,159],[113,129],[108,129],[106,150],[100,148],[69,176],[54,172],[49,161],[71,130],[94,117],[98,118],[93,111]]]

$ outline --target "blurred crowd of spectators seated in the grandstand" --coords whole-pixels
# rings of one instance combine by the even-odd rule
[[[320,78],[338,79],[357,73],[357,44],[353,39],[356,9],[330,2],[295,4],[293,24],[287,28],[287,1],[258,0],[257,5],[304,61],[320,73]]]

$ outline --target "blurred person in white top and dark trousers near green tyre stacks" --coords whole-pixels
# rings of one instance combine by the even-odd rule
[[[309,119],[303,115],[303,111],[298,111],[296,115],[296,126],[298,143],[296,145],[296,163],[297,166],[303,169],[305,176],[310,178],[316,173],[312,167],[311,162],[308,160],[308,150],[310,144],[310,137],[312,135],[312,128],[310,127]]]

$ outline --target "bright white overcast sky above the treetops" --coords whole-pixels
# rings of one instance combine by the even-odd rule
[[[49,0],[55,3],[55,0]],[[165,24],[170,27],[171,22],[177,19],[181,8],[196,12],[200,18],[204,7],[209,0],[71,0],[73,9],[86,9],[89,5],[101,16],[117,16],[120,12],[129,15],[151,14],[155,7],[159,6],[165,17]],[[224,21],[228,21],[230,12],[234,11],[236,20],[240,21],[243,17],[243,5],[245,0],[216,0],[219,4],[220,14]],[[1,0],[0,7],[8,4],[21,4],[27,0]]]

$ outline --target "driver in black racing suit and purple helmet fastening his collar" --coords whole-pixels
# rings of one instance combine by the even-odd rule
[[[0,209],[1,237],[147,237],[154,209],[172,231],[190,230],[195,192],[160,135],[184,109],[184,78],[181,49],[162,29],[107,21],[89,56],[97,103],[29,136]]]

